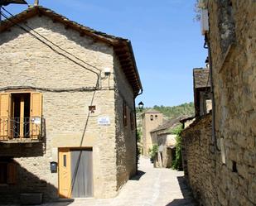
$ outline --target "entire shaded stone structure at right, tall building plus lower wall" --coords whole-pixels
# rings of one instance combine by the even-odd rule
[[[256,2],[202,1],[212,113],[182,132],[186,175],[201,205],[256,205]]]

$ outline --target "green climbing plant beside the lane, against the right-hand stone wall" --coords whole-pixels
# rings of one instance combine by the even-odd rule
[[[182,156],[181,156],[181,132],[182,127],[178,126],[172,130],[176,134],[176,153],[175,158],[172,160],[171,168],[174,170],[182,170]]]

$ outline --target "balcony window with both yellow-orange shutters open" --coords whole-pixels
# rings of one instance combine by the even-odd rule
[[[0,93],[0,140],[38,137],[41,133],[41,93]]]

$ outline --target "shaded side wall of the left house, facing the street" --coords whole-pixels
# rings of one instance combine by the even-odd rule
[[[135,128],[135,108],[133,89],[128,84],[127,79],[121,70],[118,58],[114,56],[115,71],[115,122],[116,122],[116,148],[117,148],[117,189],[133,175],[137,168],[136,151],[136,128]],[[127,125],[123,125],[123,102],[127,108]],[[131,116],[131,113],[132,116]],[[132,128],[133,124],[133,128]]]

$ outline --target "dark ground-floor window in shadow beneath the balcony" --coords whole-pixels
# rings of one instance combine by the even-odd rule
[[[16,183],[16,164],[10,157],[0,157],[0,184]]]

